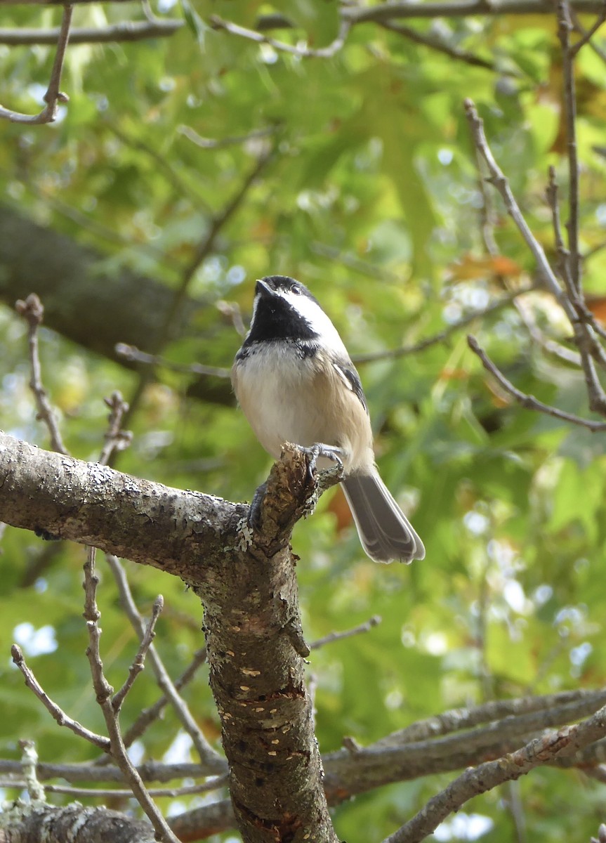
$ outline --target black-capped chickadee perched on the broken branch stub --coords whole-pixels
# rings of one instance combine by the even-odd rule
[[[282,275],[257,281],[250,330],[232,369],[236,397],[274,459],[282,444],[319,446],[319,465],[341,460],[343,491],[368,556],[423,559],[425,548],[374,464],[360,378],[307,287]]]

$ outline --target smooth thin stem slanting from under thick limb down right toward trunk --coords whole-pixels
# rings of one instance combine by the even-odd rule
[[[109,553],[106,554],[106,556],[110,570],[114,575],[115,583],[117,584],[120,592],[122,608],[125,610],[128,619],[131,621],[133,629],[137,632],[137,636],[142,639],[145,634],[145,627],[143,626],[142,617],[139,614],[135,601],[132,599],[131,588],[128,584],[128,580],[126,579],[124,568],[121,566],[121,563],[116,556]],[[179,717],[180,722],[183,725],[183,728],[190,735],[202,764],[207,766],[208,771],[223,773],[226,766],[225,761],[214,749],[212,749],[212,746],[206,740],[201,728],[199,728],[196,720],[192,717],[185,700],[174,687],[174,683],[170,679],[169,673],[164,667],[164,663],[159,657],[156,648],[153,647],[153,644],[149,647],[147,658],[152,666],[153,673],[156,676],[158,686],[164,691],[164,694],[168,696],[177,717]]]

